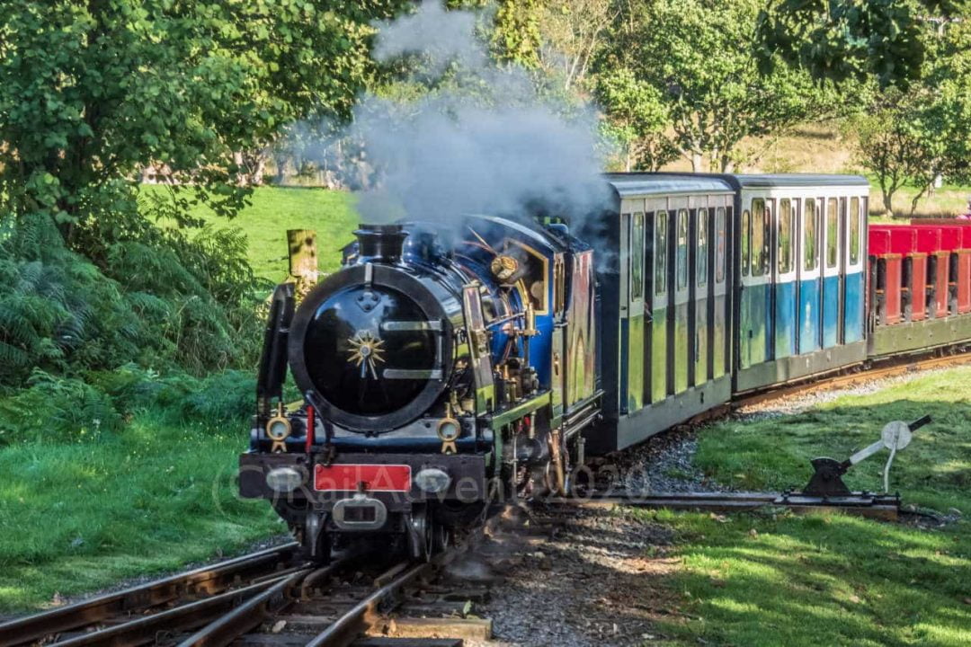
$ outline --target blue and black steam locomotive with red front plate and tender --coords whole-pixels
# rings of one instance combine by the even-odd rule
[[[592,250],[490,216],[355,235],[300,303],[273,295],[242,495],[325,561],[374,535],[427,557],[490,501],[565,493],[600,395]]]

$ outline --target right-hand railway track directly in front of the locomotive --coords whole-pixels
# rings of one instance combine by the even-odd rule
[[[451,548],[430,563],[402,561],[370,578],[358,569],[373,565],[362,560],[294,572],[171,644],[461,647],[465,638],[487,640],[491,621],[467,617],[487,589],[456,589],[441,577],[459,552]]]

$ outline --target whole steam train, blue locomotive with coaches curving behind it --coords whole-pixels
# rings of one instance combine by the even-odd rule
[[[278,286],[242,496],[272,501],[313,559],[375,536],[427,558],[490,502],[566,495],[587,455],[735,394],[971,339],[971,298],[887,319],[865,178],[604,182],[582,230],[361,225],[299,305]]]

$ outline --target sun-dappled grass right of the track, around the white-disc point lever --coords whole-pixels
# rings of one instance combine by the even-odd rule
[[[672,526],[686,600],[675,635],[720,645],[971,644],[971,368],[932,372],[798,415],[724,421],[702,432],[697,464],[745,490],[803,485],[809,459],[848,457],[893,419],[934,418],[890,471],[905,502],[963,520],[919,530],[843,514],[648,512]],[[845,477],[882,489],[887,453]]]

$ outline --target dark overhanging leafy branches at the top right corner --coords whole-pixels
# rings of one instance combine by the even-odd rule
[[[967,0],[773,0],[759,16],[759,64],[808,69],[817,79],[882,88],[920,79],[925,23],[969,17]],[[933,16],[933,17],[931,17]]]

